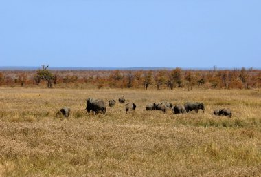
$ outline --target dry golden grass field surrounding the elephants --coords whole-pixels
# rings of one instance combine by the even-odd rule
[[[137,105],[84,111],[89,97]],[[205,113],[145,110],[202,101]],[[71,107],[69,118],[57,114]],[[232,118],[214,116],[229,107]],[[261,176],[261,90],[0,88],[0,176]]]

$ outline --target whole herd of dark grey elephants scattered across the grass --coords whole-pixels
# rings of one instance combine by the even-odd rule
[[[126,100],[124,96],[121,96],[118,99],[119,103],[125,103]],[[116,104],[115,100],[110,100],[109,101],[109,107],[114,107]],[[135,108],[137,106],[135,103],[127,103],[125,105],[125,111],[128,113],[129,111],[135,111]],[[152,110],[159,110],[164,112],[164,114],[167,112],[167,110],[172,110],[173,114],[185,114],[190,111],[195,111],[198,113],[199,110],[202,110],[204,113],[205,111],[205,105],[203,103],[199,102],[187,102],[184,105],[172,105],[172,103],[169,102],[161,102],[161,103],[148,103],[146,105],[146,110],[147,111],[152,111]],[[105,114],[106,113],[106,104],[103,100],[101,99],[94,99],[94,98],[88,98],[87,99],[87,107],[84,109],[87,110],[87,112],[93,112],[95,114],[101,113]],[[65,107],[60,109],[60,112],[67,117],[69,116],[70,108]],[[214,115],[216,116],[229,116],[231,118],[232,113],[231,110],[229,109],[221,109],[221,110],[214,110]]]

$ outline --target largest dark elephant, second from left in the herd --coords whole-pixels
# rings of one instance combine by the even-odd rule
[[[99,112],[105,114],[106,105],[103,100],[88,98],[85,110],[87,110],[87,112],[94,112],[95,114],[98,114]]]

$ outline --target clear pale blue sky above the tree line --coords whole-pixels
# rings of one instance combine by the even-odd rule
[[[0,1],[0,66],[258,67],[261,1]]]

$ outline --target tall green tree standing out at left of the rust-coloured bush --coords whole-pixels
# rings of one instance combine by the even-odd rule
[[[52,88],[52,80],[54,80],[54,76],[52,73],[47,69],[49,65],[42,65],[42,69],[36,70],[36,74],[34,76],[34,80],[38,85],[41,80],[47,81],[47,87]]]

